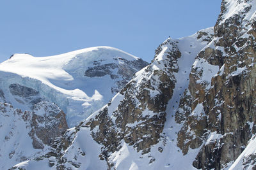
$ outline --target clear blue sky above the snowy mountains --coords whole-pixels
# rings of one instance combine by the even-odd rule
[[[214,26],[221,0],[1,0],[0,62],[113,46],[144,60],[168,36]]]

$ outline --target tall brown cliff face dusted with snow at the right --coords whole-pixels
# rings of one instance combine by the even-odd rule
[[[223,1],[214,39],[192,67],[178,146],[201,148],[198,169],[227,167],[255,134],[255,17],[255,1]]]

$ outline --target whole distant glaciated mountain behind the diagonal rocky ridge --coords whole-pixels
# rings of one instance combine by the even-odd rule
[[[0,64],[0,169],[45,153],[147,65],[108,46],[51,57],[12,55]]]

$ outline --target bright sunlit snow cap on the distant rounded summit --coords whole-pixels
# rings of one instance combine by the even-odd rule
[[[83,77],[84,69],[97,64],[122,62],[118,59],[131,61],[139,58],[108,46],[85,48],[50,57],[33,57],[28,53],[16,53],[0,64],[0,70],[36,78],[53,87],[54,83],[51,80],[74,80],[72,73],[76,73],[76,77]]]

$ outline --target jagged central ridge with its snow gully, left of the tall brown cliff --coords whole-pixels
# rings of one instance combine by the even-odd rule
[[[49,169],[175,169],[184,164],[174,137],[180,125],[175,126],[174,114],[166,109],[188,87],[195,56],[213,34],[209,28],[164,41],[152,63],[136,73],[106,106],[56,139],[49,150],[51,157],[47,153],[40,161],[36,158],[15,167],[33,169],[50,162]],[[193,167],[192,160],[185,167]]]

